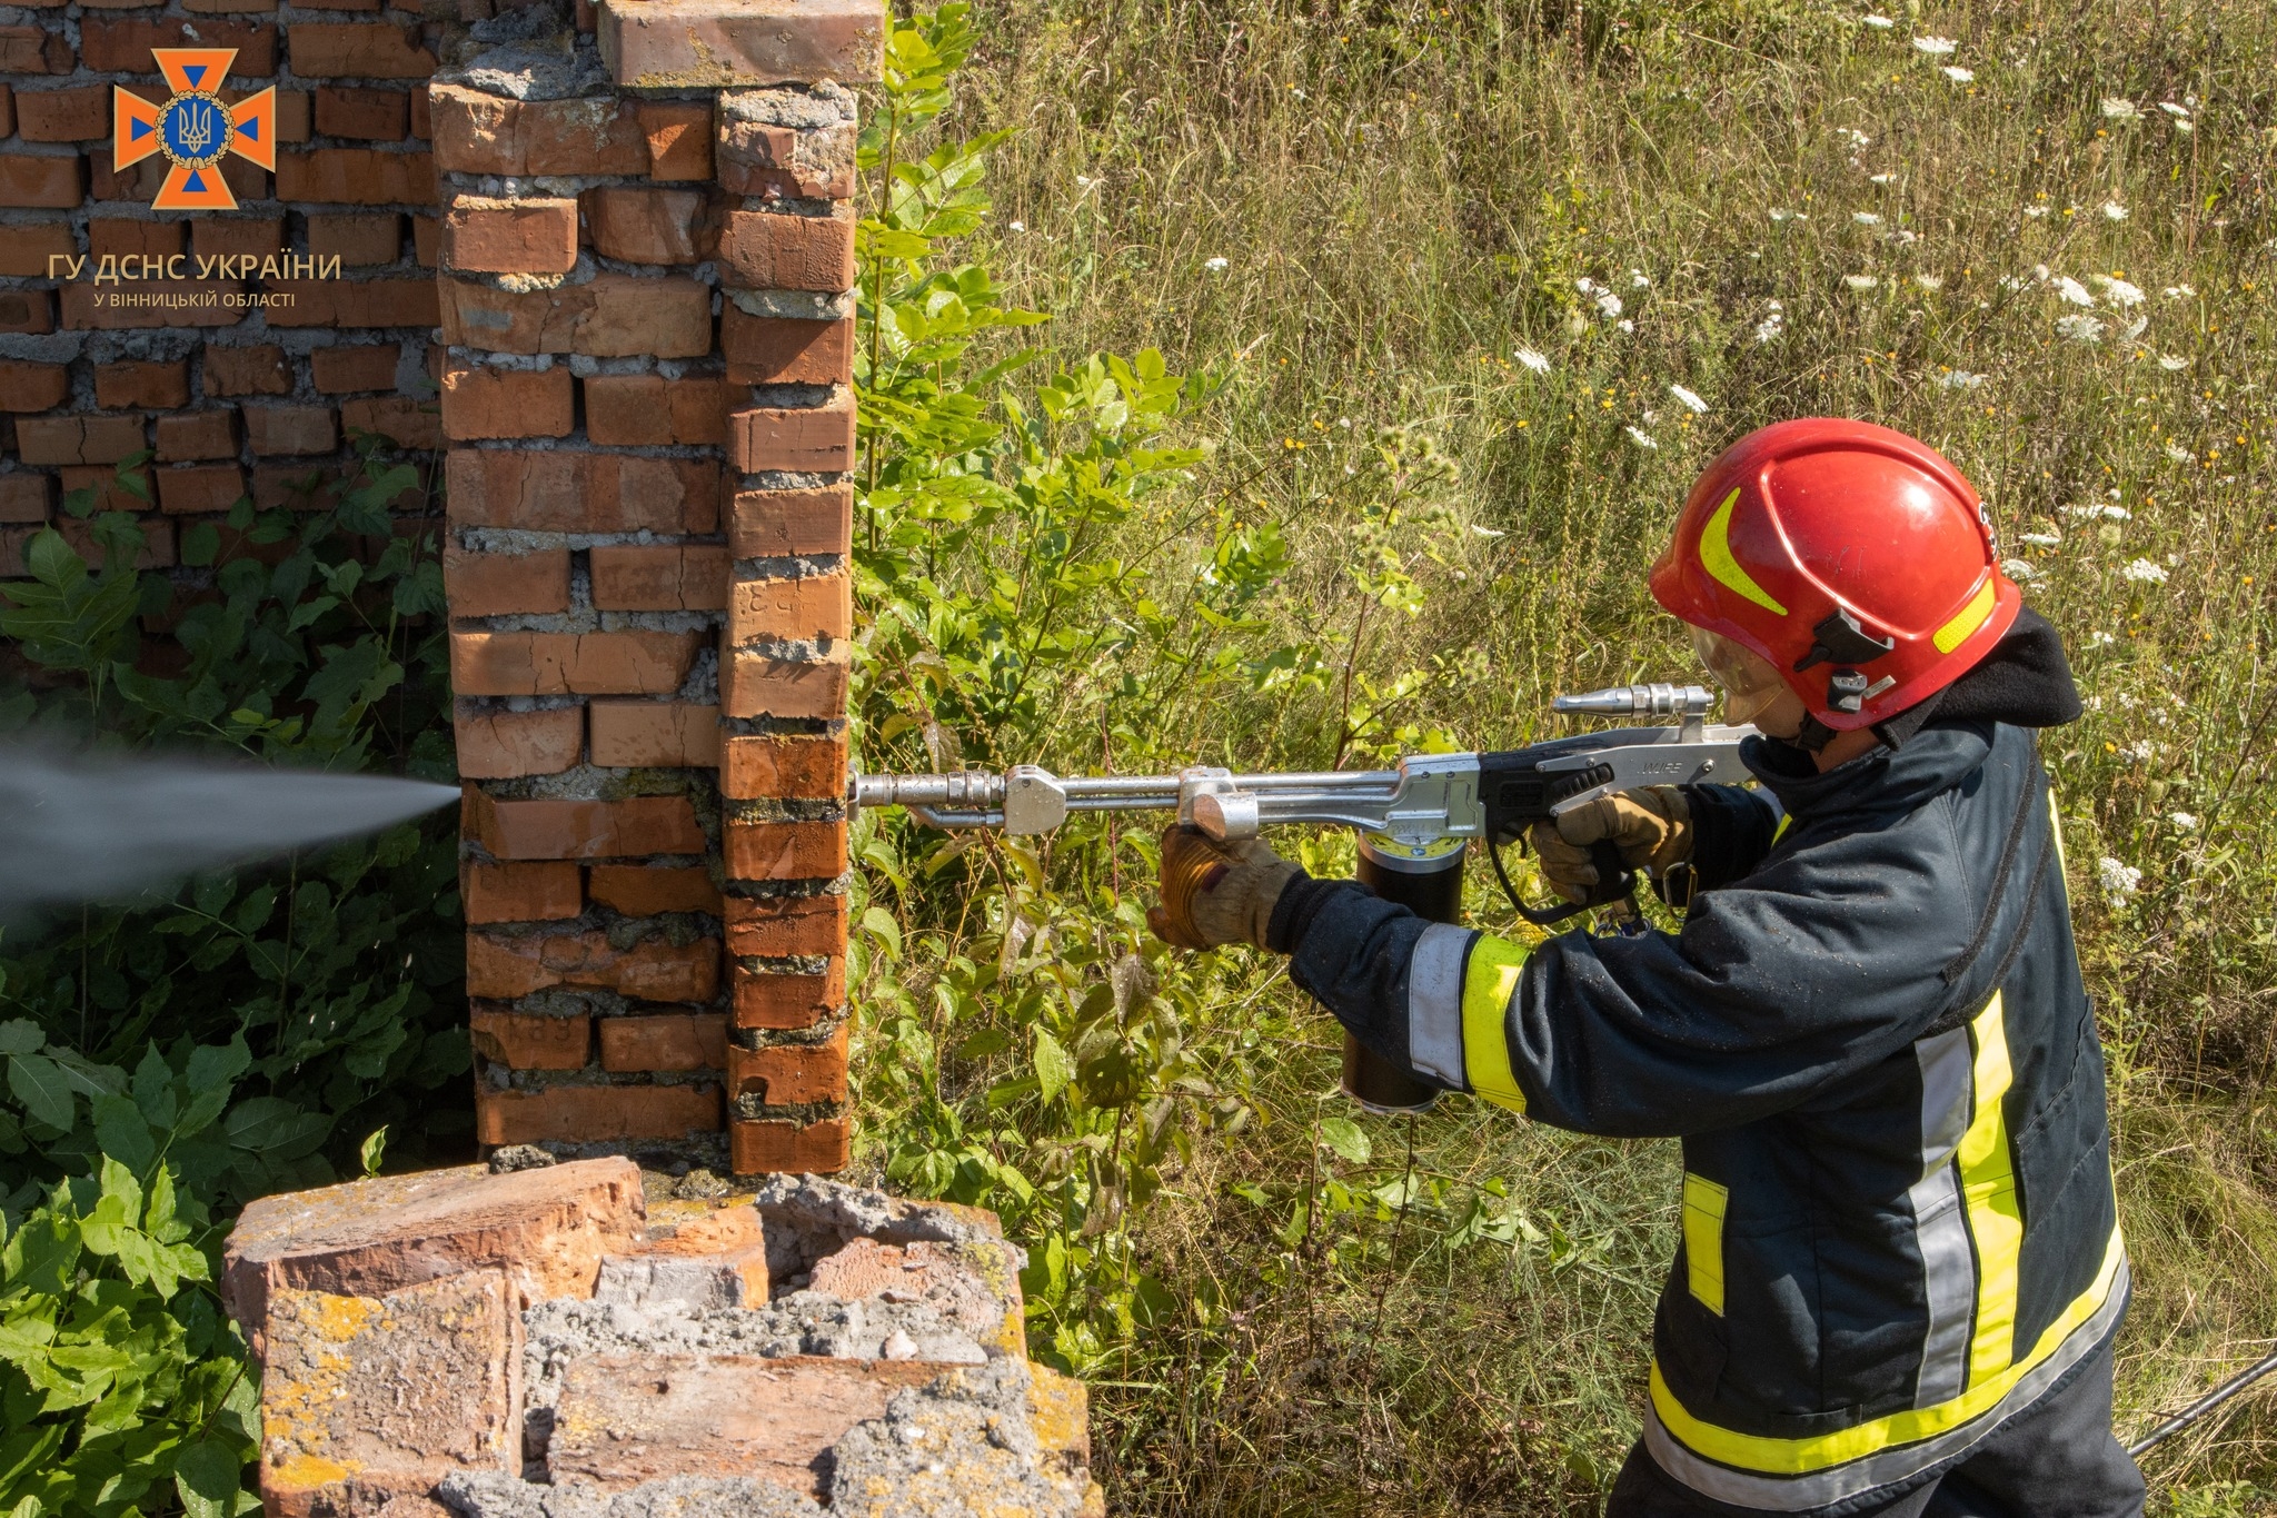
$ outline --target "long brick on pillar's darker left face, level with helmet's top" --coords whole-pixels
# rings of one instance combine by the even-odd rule
[[[453,448],[451,521],[533,533],[710,533],[715,460],[628,457],[574,448]]]

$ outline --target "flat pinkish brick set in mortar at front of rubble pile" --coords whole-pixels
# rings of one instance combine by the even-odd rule
[[[553,1482],[758,1477],[820,1498],[829,1450],[934,1379],[922,1361],[608,1354],[569,1366],[553,1409]]]

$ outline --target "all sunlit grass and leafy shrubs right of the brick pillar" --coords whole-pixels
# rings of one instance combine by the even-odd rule
[[[2277,18],[1876,16],[997,0],[897,34],[861,762],[1523,742],[1557,690],[1690,676],[1642,569],[1733,437],[1933,442],[2093,708],[2047,760],[2113,1063],[2131,1436],[2277,1336]],[[865,1161],[1031,1245],[1031,1338],[1093,1377],[1118,1511],[1594,1511],[1671,1145],[1355,1120],[1275,965],[1145,935],[1148,828],[870,817],[858,851]],[[2149,1475],[2177,1513],[2266,1509],[2268,1393]]]

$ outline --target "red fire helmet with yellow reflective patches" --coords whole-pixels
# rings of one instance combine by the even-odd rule
[[[1726,448],[1692,487],[1651,589],[1767,658],[1835,731],[1958,680],[2020,603],[1960,471],[1904,432],[1833,416]]]

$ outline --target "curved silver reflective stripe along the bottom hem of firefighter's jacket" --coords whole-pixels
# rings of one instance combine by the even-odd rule
[[[2127,1261],[2120,1259],[2111,1290],[2102,1306],[2095,1309],[2093,1318],[2072,1329],[2054,1354],[2017,1377],[2017,1384],[2008,1388],[2006,1397],[1958,1429],[1947,1429],[1935,1438],[1924,1438],[1897,1450],[1881,1450],[1844,1466],[1831,1466],[1810,1475],[1751,1475],[1746,1470],[1733,1470],[1731,1466],[1701,1459],[1699,1454],[1692,1454],[1692,1450],[1685,1450],[1683,1443],[1678,1443],[1662,1427],[1660,1411],[1653,1406],[1651,1397],[1646,1397],[1644,1447],[1651,1452],[1655,1466],[1703,1498],[1731,1502],[1733,1507],[1753,1507],[1767,1513],[1806,1513],[1815,1507],[1826,1507],[1828,1502],[1842,1502],[1844,1498],[1874,1491],[1876,1486],[1892,1486],[1906,1477],[1922,1475],[1931,1466],[1967,1454],[1970,1445],[2008,1418],[2022,1413],[2040,1397],[2040,1393],[2063,1379],[2065,1370],[2095,1354],[2095,1350],[2111,1338],[2111,1329],[2118,1327],[2120,1313],[2127,1311],[2129,1288],[2131,1281]]]

